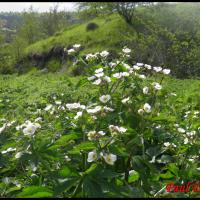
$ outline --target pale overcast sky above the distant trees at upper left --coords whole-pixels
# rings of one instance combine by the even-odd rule
[[[48,11],[56,2],[0,2],[0,12],[21,12],[24,9],[28,10],[31,5],[35,11]],[[75,3],[73,2],[59,2],[58,10],[74,10]]]

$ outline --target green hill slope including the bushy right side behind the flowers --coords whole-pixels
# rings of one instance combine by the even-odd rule
[[[50,60],[57,59],[57,70],[63,64],[63,49],[75,43],[83,46],[82,55],[102,50],[115,53],[127,46],[133,50],[131,58],[136,62],[166,66],[179,78],[199,76],[198,10],[200,6],[194,4],[140,8],[132,26],[116,14],[98,17],[28,46],[25,50],[25,58],[30,58],[27,65],[49,68],[55,64]],[[99,28],[87,31],[91,22]]]

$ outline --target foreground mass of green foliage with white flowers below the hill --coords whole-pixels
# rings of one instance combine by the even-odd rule
[[[195,196],[163,188],[199,174],[199,102],[181,101],[170,70],[130,61],[127,47],[117,60],[80,49],[67,50],[87,69],[79,79],[1,77],[12,87],[1,86],[0,195]]]

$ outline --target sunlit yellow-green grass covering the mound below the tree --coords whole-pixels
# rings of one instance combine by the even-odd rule
[[[134,29],[127,26],[122,18],[117,15],[98,17],[90,21],[98,24],[99,28],[94,31],[86,31],[89,22],[69,27],[68,30],[53,37],[34,43],[27,47],[26,54],[48,52],[54,46],[68,46],[74,43],[84,45],[83,54],[102,51],[105,49],[115,49],[126,43],[128,35],[134,35]],[[73,42],[72,42],[73,41]]]

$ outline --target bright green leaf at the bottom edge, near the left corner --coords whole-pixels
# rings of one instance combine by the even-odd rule
[[[17,195],[18,198],[44,198],[52,196],[53,192],[51,190],[41,186],[30,186],[24,188],[24,190]]]

